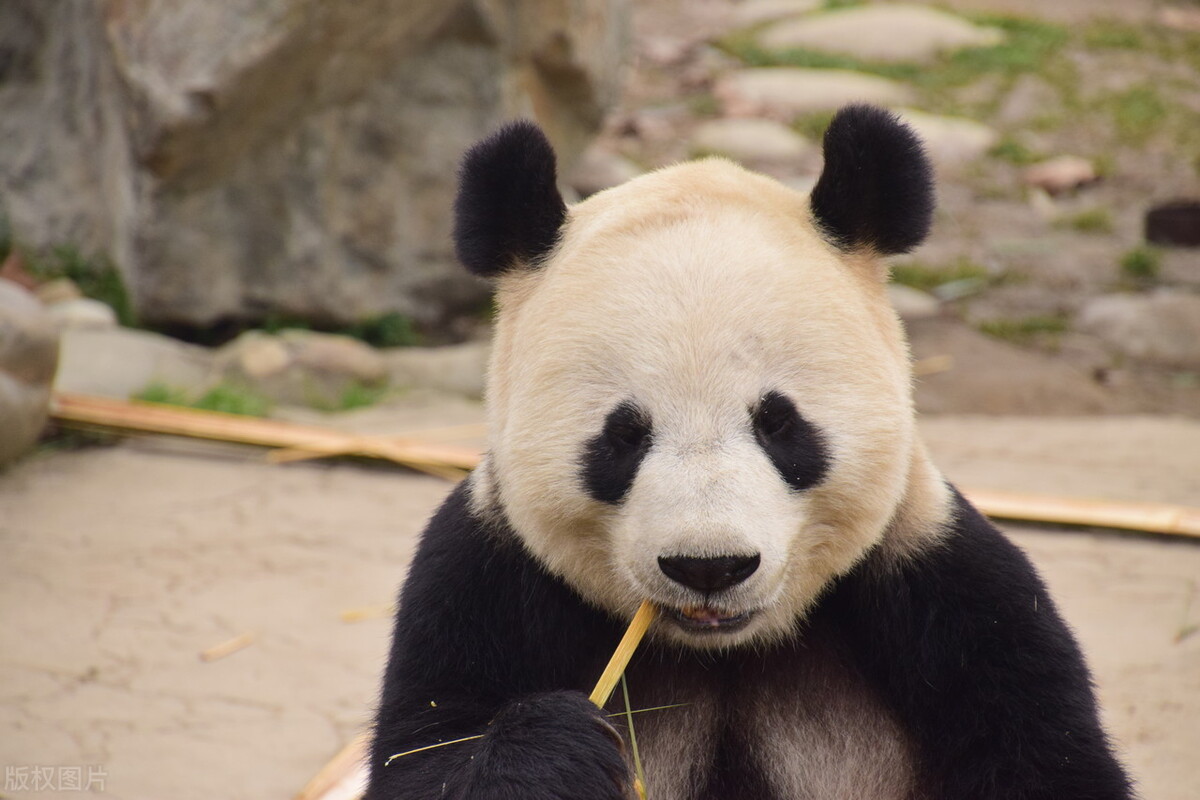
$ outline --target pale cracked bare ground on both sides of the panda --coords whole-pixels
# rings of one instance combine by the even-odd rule
[[[480,411],[431,401],[343,419],[395,433]],[[966,487],[1200,505],[1195,421],[943,416],[924,429]],[[449,486],[260,458],[127,440],[0,475],[0,795],[64,796],[78,766],[114,798],[290,798],[364,727],[389,622],[341,613],[389,603]],[[1183,634],[1200,622],[1200,542],[1006,528],[1079,632],[1144,798],[1194,798],[1200,634]],[[198,657],[245,632],[245,650]],[[49,768],[41,789],[35,768]]]

